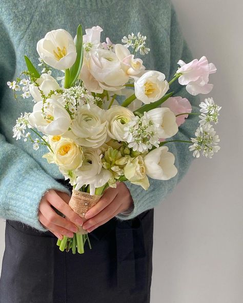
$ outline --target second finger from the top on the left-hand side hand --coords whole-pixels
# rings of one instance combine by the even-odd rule
[[[65,202],[64,202],[65,203]],[[39,211],[42,213],[45,217],[45,219],[50,223],[54,225],[58,225],[60,227],[64,227],[65,229],[76,232],[77,226],[73,224],[71,221],[61,217],[58,215],[50,206],[48,202],[41,203],[39,206]]]

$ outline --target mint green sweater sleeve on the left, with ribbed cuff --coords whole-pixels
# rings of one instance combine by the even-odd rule
[[[4,86],[7,86],[7,81],[13,78],[15,72],[14,48],[1,20],[0,70],[1,112],[1,100],[5,98],[4,91],[6,91]],[[31,156],[17,145],[8,143],[1,131],[0,217],[21,221],[40,231],[46,231],[47,229],[38,220],[38,207],[42,196],[49,189],[69,193],[65,186],[51,178]]]

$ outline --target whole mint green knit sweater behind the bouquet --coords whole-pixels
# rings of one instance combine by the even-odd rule
[[[177,61],[192,59],[181,36],[175,12],[168,0],[1,0],[0,3],[0,217],[21,221],[39,230],[46,230],[38,221],[40,199],[48,189],[69,192],[58,183],[62,179],[57,166],[48,164],[42,155],[46,147],[32,149],[31,143],[12,138],[12,127],[21,113],[31,112],[31,98],[14,101],[7,81],[26,69],[24,55],[37,66],[36,43],[54,29],[63,28],[75,35],[78,24],[83,28],[99,25],[104,29],[103,40],[114,43],[131,32],[147,36],[149,55],[147,69],[163,72],[171,79]],[[188,95],[178,83],[172,85],[177,96],[187,97],[198,111],[198,99]],[[177,139],[187,140],[195,131],[198,118],[190,116],[180,127]],[[185,175],[191,160],[187,143],[169,143],[178,168],[169,181],[150,179],[147,191],[126,182],[134,200],[130,215],[118,214],[120,220],[134,218],[163,201]]]

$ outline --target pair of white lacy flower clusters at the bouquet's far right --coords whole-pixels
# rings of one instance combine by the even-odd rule
[[[193,157],[199,158],[200,152],[206,158],[212,158],[214,153],[217,153],[220,147],[218,135],[210,124],[218,122],[219,111],[221,107],[214,103],[213,98],[205,99],[205,102],[199,104],[202,113],[199,118],[199,127],[196,130],[195,138],[191,138],[193,145],[189,146],[190,151],[193,151]]]

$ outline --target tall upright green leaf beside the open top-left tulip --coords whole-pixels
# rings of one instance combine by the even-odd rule
[[[80,24],[77,27],[76,51],[77,51],[77,57],[73,66],[70,69],[70,86],[72,86],[74,82],[77,80],[80,74],[80,70],[82,68],[83,58],[84,58],[83,31],[82,31],[82,26]]]

